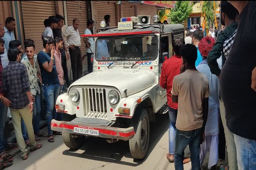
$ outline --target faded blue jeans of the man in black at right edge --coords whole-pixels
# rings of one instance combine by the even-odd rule
[[[256,170],[256,140],[234,134],[239,170]]]

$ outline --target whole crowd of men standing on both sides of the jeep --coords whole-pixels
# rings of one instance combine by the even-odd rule
[[[185,40],[179,38],[173,42],[174,56],[163,63],[160,85],[167,89],[169,105],[169,152],[166,157],[174,162],[176,170],[183,169],[183,164],[190,161],[192,169],[200,169],[207,151],[210,153],[208,169],[211,169],[218,162],[221,144],[226,144],[229,161],[229,165],[221,167],[223,170],[256,168],[256,133],[252,128],[256,117],[255,14],[254,1],[221,1],[220,20],[226,29],[216,40],[212,29],[206,36],[199,25],[185,30]],[[110,15],[104,19],[107,30]],[[61,135],[61,132],[52,131],[50,124],[52,119],[63,120],[63,115],[56,113],[54,106],[57,97],[65,91],[64,79],[67,86],[70,85],[69,58],[73,81],[82,77],[85,56],[81,55],[79,20],[75,18],[63,33],[61,15],[50,16],[44,25],[43,50],[36,55],[33,40],[25,40],[24,50],[21,42],[15,40],[14,18],[8,17],[5,25],[0,24],[1,168],[13,164],[4,134],[8,107],[22,159],[26,160],[27,146],[35,151],[42,147],[36,143],[40,137],[48,137],[49,142],[54,142],[53,134]],[[84,34],[92,34],[93,27],[94,21],[88,20]],[[193,36],[190,37],[191,32]],[[90,61],[94,41],[90,37],[83,41],[90,73],[93,71]],[[46,100],[47,134],[39,129],[42,93]],[[225,133],[226,142],[223,143],[219,143],[219,117]],[[190,157],[184,157],[187,145]]]

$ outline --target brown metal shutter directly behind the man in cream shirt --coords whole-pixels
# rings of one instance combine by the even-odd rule
[[[68,26],[71,26],[73,19],[77,18],[79,20],[78,31],[79,34],[84,34],[87,28],[88,21],[88,2],[87,1],[67,1],[67,14],[68,14]],[[83,42],[83,37],[81,37],[81,53],[82,56],[86,53],[85,43]],[[87,71],[87,57],[83,60],[83,72]]]

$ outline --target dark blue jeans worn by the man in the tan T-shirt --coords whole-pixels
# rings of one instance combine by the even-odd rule
[[[189,145],[191,170],[200,170],[200,144],[203,128],[190,131],[176,129],[174,166],[175,170],[183,170],[184,150]]]

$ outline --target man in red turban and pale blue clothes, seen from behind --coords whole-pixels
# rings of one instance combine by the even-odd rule
[[[218,134],[219,134],[219,78],[212,74],[207,64],[207,56],[215,43],[214,38],[204,37],[198,44],[199,52],[203,57],[203,61],[196,67],[198,71],[205,74],[208,78],[210,96],[208,118],[205,126],[205,141],[200,146],[200,165],[202,165],[207,151],[209,150],[208,169],[216,165],[218,162]]]

